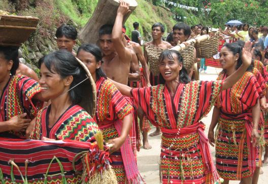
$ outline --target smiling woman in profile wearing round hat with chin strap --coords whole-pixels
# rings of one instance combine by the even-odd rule
[[[39,111],[27,128],[31,139],[87,141],[98,130],[93,115],[93,90],[86,71],[68,51],[59,50],[39,60],[41,95],[51,105]],[[83,99],[83,100],[82,100]]]

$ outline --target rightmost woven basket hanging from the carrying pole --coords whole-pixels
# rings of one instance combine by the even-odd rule
[[[218,53],[219,47],[219,34],[216,33],[214,37],[209,40],[195,43],[196,57],[197,58],[210,58]]]

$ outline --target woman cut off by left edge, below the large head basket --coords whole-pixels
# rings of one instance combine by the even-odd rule
[[[42,108],[39,83],[16,75],[19,47],[0,46],[0,137],[25,138],[25,130]]]

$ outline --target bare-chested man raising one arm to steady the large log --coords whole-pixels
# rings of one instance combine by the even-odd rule
[[[127,85],[130,69],[131,51],[122,42],[122,22],[129,11],[128,5],[121,2],[115,24],[105,24],[99,29],[99,46],[103,52],[103,71],[112,80]]]

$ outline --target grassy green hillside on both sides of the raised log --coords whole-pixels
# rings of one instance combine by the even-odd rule
[[[94,12],[97,0],[61,0],[55,1],[56,6],[67,16],[69,16],[79,26],[84,26]],[[155,22],[161,22],[170,32],[176,21],[172,18],[171,12],[163,8],[152,5],[144,0],[137,0],[138,7],[131,13],[125,25],[126,34],[131,35],[132,23],[140,23],[140,32],[147,37],[151,31],[151,26]]]

